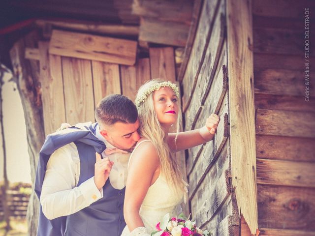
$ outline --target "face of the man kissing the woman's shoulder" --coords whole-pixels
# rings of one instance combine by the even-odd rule
[[[131,151],[140,139],[138,129],[137,119],[134,123],[116,122],[113,125],[105,125],[100,134],[116,148]]]

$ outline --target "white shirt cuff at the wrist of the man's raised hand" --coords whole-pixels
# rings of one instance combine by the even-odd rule
[[[97,189],[94,182],[94,177],[84,181],[79,187],[83,197],[86,199],[89,205],[103,197],[103,189],[100,191]]]

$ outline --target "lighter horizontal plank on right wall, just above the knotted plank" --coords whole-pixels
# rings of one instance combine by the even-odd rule
[[[257,183],[315,187],[315,163],[257,158]]]

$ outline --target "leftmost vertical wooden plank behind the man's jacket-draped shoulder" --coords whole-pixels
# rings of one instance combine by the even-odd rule
[[[48,42],[38,42],[45,135],[65,122],[61,57],[48,54]]]

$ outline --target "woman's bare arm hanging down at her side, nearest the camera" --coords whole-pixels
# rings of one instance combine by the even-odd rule
[[[139,210],[158,166],[158,153],[151,142],[142,143],[132,154],[124,202],[124,217],[130,232],[144,227]]]

